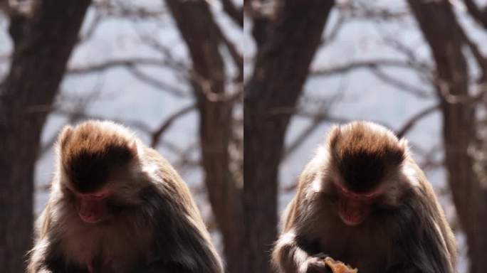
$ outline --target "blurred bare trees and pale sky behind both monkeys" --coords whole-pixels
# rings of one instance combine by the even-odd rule
[[[2,272],[23,271],[56,134],[85,119],[125,124],[169,159],[241,273],[273,272],[278,215],[330,125],[383,124],[433,184],[459,272],[487,268],[487,1],[0,0],[0,11]]]

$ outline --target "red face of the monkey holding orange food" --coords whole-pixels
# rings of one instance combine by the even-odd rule
[[[342,183],[335,182],[340,195],[338,214],[345,225],[360,225],[370,213],[370,204],[382,194],[382,189],[375,189],[365,193],[354,193],[347,190]]]

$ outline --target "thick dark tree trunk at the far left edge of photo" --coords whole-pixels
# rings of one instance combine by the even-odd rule
[[[24,271],[24,255],[32,245],[33,172],[41,130],[89,4],[37,1],[30,18],[11,21],[14,55],[0,90],[2,272]]]

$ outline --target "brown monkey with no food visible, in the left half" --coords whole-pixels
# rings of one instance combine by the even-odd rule
[[[28,272],[223,272],[186,184],[132,132],[84,122],[57,151]]]

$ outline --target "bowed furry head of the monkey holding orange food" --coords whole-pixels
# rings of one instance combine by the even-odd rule
[[[409,183],[402,171],[407,142],[371,122],[334,127],[328,137],[328,193],[346,225],[359,225],[378,205],[394,206]]]

